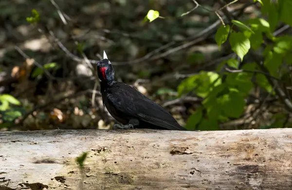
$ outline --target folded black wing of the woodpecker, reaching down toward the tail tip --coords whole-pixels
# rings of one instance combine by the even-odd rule
[[[124,83],[110,88],[108,100],[120,114],[170,130],[186,130],[159,104]]]

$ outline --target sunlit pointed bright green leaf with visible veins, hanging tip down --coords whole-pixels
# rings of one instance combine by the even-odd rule
[[[241,32],[232,32],[229,38],[232,50],[240,57],[241,61],[251,48],[249,39]]]

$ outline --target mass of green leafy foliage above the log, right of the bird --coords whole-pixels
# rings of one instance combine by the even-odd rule
[[[292,26],[292,1],[279,0],[275,3],[270,0],[259,0],[259,2],[262,6],[262,14],[268,15],[267,20],[263,18],[249,19],[245,21],[249,26],[241,21],[232,20],[233,25],[222,25],[219,27],[215,40],[220,48],[229,36],[232,50],[242,61],[251,47],[256,50],[261,45],[265,45],[262,35],[263,33],[266,34],[273,44],[267,45],[262,53],[264,65],[268,68],[271,75],[281,77],[278,69],[283,64],[283,61],[285,60],[288,64],[292,63],[292,36],[274,37],[273,32],[276,26],[280,24],[280,21]],[[237,29],[235,28],[236,26],[238,27]],[[236,59],[231,58],[222,64],[224,63],[238,69],[238,61]],[[250,67],[250,65],[255,65],[255,63],[246,65]],[[223,76],[227,76],[224,82],[222,82]],[[248,97],[255,85],[251,82],[253,76],[253,74],[244,72],[220,75],[212,72],[200,72],[200,74],[184,79],[178,86],[179,96],[195,92],[196,95],[205,98],[203,108],[197,109],[189,117],[186,122],[186,128],[189,130],[218,130],[218,123],[221,118],[239,118],[246,106],[245,98]],[[268,93],[271,93],[272,86],[266,77],[263,74],[256,74],[256,81]],[[204,111],[206,111],[206,114],[203,114]],[[283,114],[279,115],[282,121],[277,120],[273,125],[274,127],[283,126],[284,116]]]

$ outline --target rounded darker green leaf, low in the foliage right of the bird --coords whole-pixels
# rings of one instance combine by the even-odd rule
[[[220,100],[222,110],[228,117],[238,118],[244,111],[244,98],[237,92],[223,95]]]

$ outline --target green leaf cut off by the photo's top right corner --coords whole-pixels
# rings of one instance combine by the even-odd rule
[[[292,26],[292,0],[278,0],[280,19]]]

